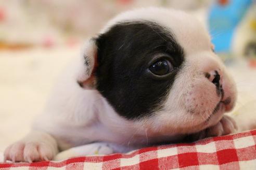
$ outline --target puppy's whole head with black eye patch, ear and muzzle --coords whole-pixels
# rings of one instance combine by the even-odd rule
[[[78,81],[151,134],[193,133],[236,101],[233,79],[204,27],[176,10],[139,9],[111,20],[83,53]]]

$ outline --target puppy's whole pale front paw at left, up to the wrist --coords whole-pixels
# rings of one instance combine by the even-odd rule
[[[47,161],[52,160],[57,152],[57,142],[51,135],[33,131],[7,147],[4,160],[12,162]]]

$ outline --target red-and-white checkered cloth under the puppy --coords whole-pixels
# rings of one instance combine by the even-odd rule
[[[256,130],[65,161],[0,163],[0,169],[256,169]]]

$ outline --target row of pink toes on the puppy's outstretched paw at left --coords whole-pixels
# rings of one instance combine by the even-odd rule
[[[53,148],[43,142],[18,141],[6,148],[4,160],[12,162],[36,162],[52,160]]]

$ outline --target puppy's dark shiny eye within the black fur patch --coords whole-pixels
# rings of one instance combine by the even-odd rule
[[[151,64],[149,66],[150,72],[152,72],[155,75],[158,76],[163,76],[171,72],[173,70],[172,64],[170,61],[161,59],[158,60],[157,62]]]

